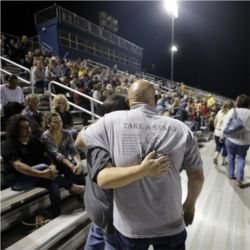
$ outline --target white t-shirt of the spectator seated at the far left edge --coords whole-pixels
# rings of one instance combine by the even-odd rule
[[[24,103],[23,90],[19,86],[16,89],[9,89],[6,84],[0,86],[1,105],[4,106],[8,102]]]

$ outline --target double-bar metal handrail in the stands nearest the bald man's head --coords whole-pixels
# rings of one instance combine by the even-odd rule
[[[80,107],[79,105],[76,105],[75,103],[73,103],[73,102],[70,102],[70,101],[68,101],[68,103],[71,105],[71,106],[73,106],[73,107],[75,107],[75,108],[77,108],[77,109],[79,109],[79,110],[82,110],[83,112],[85,112],[85,113],[87,113],[87,114],[89,114],[89,115],[91,115],[91,117],[92,117],[92,120],[94,120],[94,118],[101,118],[101,116],[99,116],[99,115],[97,115],[97,114],[95,114],[94,112],[95,112],[95,110],[94,110],[94,102],[95,103],[98,103],[98,104],[100,104],[100,105],[103,105],[103,102],[101,102],[101,101],[98,101],[98,100],[96,100],[95,98],[92,98],[92,97],[90,97],[90,96],[88,96],[88,95],[85,95],[85,94],[83,94],[83,93],[81,93],[81,92],[79,92],[79,91],[77,91],[77,90],[75,90],[75,89],[72,89],[72,88],[70,88],[70,87],[68,87],[68,86],[65,86],[65,85],[63,85],[63,84],[61,84],[61,83],[59,83],[59,82],[56,82],[56,81],[50,81],[49,82],[49,85],[48,85],[48,92],[49,92],[49,95],[50,95],[50,98],[49,98],[49,102],[50,102],[50,109],[52,108],[52,96],[53,97],[55,97],[56,96],[56,94],[54,94],[54,93],[52,93],[52,89],[51,89],[51,85],[52,84],[54,84],[54,85],[57,85],[57,86],[60,86],[60,87],[62,87],[62,88],[64,88],[64,89],[67,89],[67,90],[69,90],[70,92],[74,92],[74,93],[76,93],[76,94],[78,94],[78,95],[80,95],[80,96],[82,96],[82,97],[84,97],[84,98],[86,98],[86,99],[88,99],[89,101],[90,101],[90,108],[91,108],[91,111],[89,111],[89,110],[87,110],[87,109],[85,109],[85,108],[82,108],[82,107]]]

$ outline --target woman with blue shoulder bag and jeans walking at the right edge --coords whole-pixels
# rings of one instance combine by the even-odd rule
[[[236,112],[241,119],[244,128],[240,131],[226,136],[226,147],[228,153],[228,174],[231,179],[237,179],[239,187],[244,186],[244,168],[246,155],[250,145],[250,97],[246,94],[239,95],[236,99]],[[222,126],[222,131],[233,116],[234,109],[231,109]],[[222,135],[222,139],[225,135]],[[235,158],[237,159],[237,176],[235,177]]]

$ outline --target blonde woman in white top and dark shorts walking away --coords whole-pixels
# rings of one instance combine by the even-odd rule
[[[227,112],[233,107],[233,102],[228,100],[224,103],[221,110],[218,111],[217,115],[214,119],[214,139],[215,139],[215,154],[214,154],[214,165],[218,165],[219,154],[222,155],[222,165],[227,165],[226,157],[227,157],[227,149],[224,143],[224,140],[220,139],[222,135],[222,125],[225,120]]]

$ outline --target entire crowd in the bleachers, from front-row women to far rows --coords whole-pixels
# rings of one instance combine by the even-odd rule
[[[78,131],[74,128],[68,100],[88,110],[90,103],[77,93],[54,85],[51,91],[56,96],[52,110],[43,114],[39,111],[37,93],[46,94],[49,82],[54,80],[103,102],[114,94],[126,96],[128,88],[141,78],[141,74],[120,72],[116,67],[91,66],[88,60],[60,59],[40,49],[31,49],[26,38],[23,36],[20,42],[7,41],[1,35],[2,56],[31,70],[30,75],[21,72],[20,76],[31,82],[36,93],[25,98],[15,75],[6,77],[6,83],[1,85],[2,125],[6,122],[6,126],[1,128],[7,131],[1,154],[14,166],[15,182],[9,185],[15,190],[31,186],[46,188],[50,194],[52,217],[56,217],[61,213],[59,187],[65,187],[72,193],[82,193],[85,184],[80,154],[73,141]],[[158,81],[153,83],[159,114],[181,120],[194,132],[200,129],[210,134],[214,130],[218,132],[221,106],[216,97],[195,93],[184,83],[168,84],[164,90]],[[231,108],[232,103],[230,105]],[[228,106],[225,111],[224,107],[222,113],[230,109]],[[95,112],[103,114],[101,105],[95,104]],[[214,164],[218,164],[218,155],[223,148],[223,165],[226,165],[226,148],[216,133]],[[38,146],[41,148],[39,152]],[[30,153],[30,150],[34,152]]]

